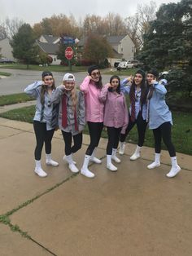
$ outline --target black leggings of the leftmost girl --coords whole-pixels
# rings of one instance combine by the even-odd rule
[[[45,142],[46,154],[51,152],[51,140],[53,138],[55,129],[46,130],[46,123],[40,121],[33,121],[33,128],[36,136],[35,160],[41,160],[41,151],[43,143]]]

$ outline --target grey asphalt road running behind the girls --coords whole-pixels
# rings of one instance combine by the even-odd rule
[[[29,84],[41,80],[41,71],[1,69],[2,72],[11,73],[11,77],[0,79],[0,95],[11,95],[24,91]],[[59,86],[62,82],[64,73],[55,72],[55,85]],[[87,73],[73,73],[76,77],[76,85],[81,85]],[[111,75],[102,75],[103,84],[109,82]]]

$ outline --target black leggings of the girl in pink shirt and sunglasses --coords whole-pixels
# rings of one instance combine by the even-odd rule
[[[98,147],[103,130],[103,122],[88,121],[87,125],[89,128],[90,143],[85,154],[91,156],[94,152],[94,148]]]

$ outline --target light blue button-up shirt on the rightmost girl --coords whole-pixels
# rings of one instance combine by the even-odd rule
[[[155,90],[149,100],[149,129],[156,129],[164,122],[170,121],[172,124],[172,113],[165,102],[166,88],[155,82]]]

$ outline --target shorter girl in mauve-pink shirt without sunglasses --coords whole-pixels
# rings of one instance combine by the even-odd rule
[[[116,157],[120,134],[124,134],[128,126],[128,109],[123,93],[120,93],[120,77],[112,76],[110,82],[103,86],[100,99],[105,103],[104,126],[107,126],[107,169],[116,171],[111,160],[120,163]]]

